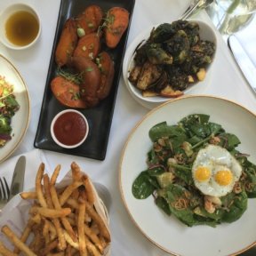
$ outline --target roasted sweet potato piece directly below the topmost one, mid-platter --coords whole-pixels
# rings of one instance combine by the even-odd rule
[[[82,56],[94,59],[100,52],[100,36],[92,33],[81,37],[74,51],[74,57]]]

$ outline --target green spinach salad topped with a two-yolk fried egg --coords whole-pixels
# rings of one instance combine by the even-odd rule
[[[134,197],[145,199],[152,195],[156,205],[162,211],[167,215],[174,215],[188,227],[195,225],[216,227],[222,222],[236,221],[246,210],[248,198],[256,197],[256,165],[248,160],[248,155],[237,150],[236,147],[241,142],[235,134],[226,132],[220,124],[212,123],[209,119],[210,116],[195,114],[182,118],[175,125],[163,122],[153,126],[149,130],[149,138],[152,140],[153,146],[148,152],[148,169],[140,172],[132,184]],[[196,179],[204,181],[201,184],[207,189],[208,185],[213,184],[211,180],[209,181],[212,178],[208,179],[206,176],[210,173],[208,171],[211,168],[214,170],[215,167],[211,164],[204,164],[209,159],[212,161],[211,154],[207,161],[201,161],[203,167],[213,166],[210,169],[202,169],[201,166],[201,171],[208,170],[203,172],[203,176],[202,172],[201,176],[196,176],[196,171],[200,168],[197,166],[196,169],[194,168],[198,156],[201,157],[203,151],[202,156],[207,156],[205,148],[209,147],[217,148],[218,154],[223,150],[227,151],[228,153],[225,154],[230,155],[228,159],[234,159],[232,161],[236,161],[236,166],[241,168],[239,179],[236,180],[235,176],[232,176],[235,173],[234,170],[232,172],[230,170],[220,171],[219,176],[215,175],[214,179],[219,177],[219,181],[216,178],[219,184],[215,182],[217,185],[213,186],[215,189],[213,192],[216,192],[216,194],[213,193],[215,196],[202,193],[202,190],[198,189],[200,187],[196,186],[198,183],[200,184]],[[225,161],[224,164],[222,163],[223,166],[226,164]],[[205,173],[208,174],[205,176]],[[229,176],[223,176],[223,173],[229,173]],[[203,180],[200,180],[202,177]],[[208,181],[204,180],[205,177]],[[231,186],[228,182],[232,179],[234,182]],[[218,196],[220,188],[228,186],[230,191],[228,190],[225,196]],[[207,189],[206,191],[208,191]]]

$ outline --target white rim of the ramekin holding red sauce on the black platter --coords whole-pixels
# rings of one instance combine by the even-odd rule
[[[84,122],[85,122],[85,125],[86,125],[86,132],[84,134],[84,139],[81,140],[80,142],[78,142],[77,144],[74,144],[74,145],[65,145],[65,144],[62,144],[59,140],[57,140],[54,132],[53,132],[53,126],[57,120],[58,117],[62,116],[63,114],[65,113],[68,113],[68,112],[73,112],[73,113],[76,113],[78,114],[79,116],[82,116],[83,119],[84,119]],[[54,116],[54,118],[52,119],[52,124],[51,124],[51,135],[52,135],[52,139],[55,141],[56,144],[58,144],[61,148],[77,148],[79,147],[81,144],[84,143],[84,140],[86,140],[87,136],[88,136],[88,133],[89,133],[89,124],[88,124],[88,121],[87,121],[87,118],[79,111],[77,111],[76,109],[65,109],[65,110],[62,110],[60,111],[56,116]]]

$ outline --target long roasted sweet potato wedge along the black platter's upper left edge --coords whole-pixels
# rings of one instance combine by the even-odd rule
[[[68,63],[76,48],[77,40],[76,21],[68,19],[61,31],[55,52],[55,61],[58,66],[62,67]]]

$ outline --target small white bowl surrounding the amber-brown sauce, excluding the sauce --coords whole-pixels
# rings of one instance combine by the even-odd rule
[[[29,12],[33,14],[36,18],[36,21],[38,22],[38,32],[35,37],[35,39],[30,42],[29,44],[26,45],[18,45],[18,44],[13,44],[6,36],[6,21],[16,12]],[[38,13],[34,8],[29,6],[28,4],[12,4],[7,6],[3,12],[0,14],[0,41],[2,44],[4,44],[6,47],[13,49],[13,50],[23,50],[27,49],[28,47],[34,45],[36,41],[38,40],[39,36],[41,34],[41,22]]]

